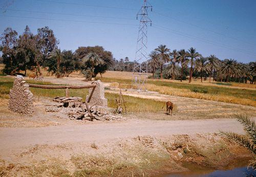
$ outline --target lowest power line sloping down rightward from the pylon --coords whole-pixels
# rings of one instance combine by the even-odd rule
[[[179,32],[177,30],[173,30],[173,29],[169,29],[169,28],[165,28],[165,27],[161,27],[161,26],[158,26],[158,27],[153,26],[153,28],[160,29],[160,30],[167,31],[167,32],[171,32],[171,33],[174,33],[174,34],[177,34],[177,35],[180,35],[180,36],[184,36],[184,37],[189,37],[189,38],[193,38],[193,39],[196,39],[196,40],[200,40],[200,41],[203,41],[205,43],[209,43],[209,44],[214,45],[214,46],[220,46],[220,47],[223,47],[223,48],[226,48],[226,49],[238,51],[238,52],[249,54],[249,55],[253,55],[253,56],[256,55],[256,53],[253,53],[253,52],[244,51],[244,50],[236,49],[236,48],[231,48],[229,46],[222,45],[222,44],[219,44],[217,42],[214,42],[214,41],[211,41],[211,40],[207,40],[207,39],[204,39],[204,38],[200,38],[200,37],[197,37],[197,36],[193,36],[193,35],[190,35],[190,34],[182,33],[182,32]]]

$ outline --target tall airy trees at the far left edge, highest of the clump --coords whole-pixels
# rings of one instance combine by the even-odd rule
[[[15,75],[19,71],[37,70],[40,72],[40,65],[48,54],[57,45],[53,31],[48,27],[38,29],[36,35],[30,32],[28,26],[22,35],[11,28],[7,28],[0,40],[0,50],[3,53],[4,73]]]

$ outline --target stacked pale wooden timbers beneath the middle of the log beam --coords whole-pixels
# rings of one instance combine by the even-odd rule
[[[63,107],[80,107],[82,104],[81,97],[55,97],[53,101],[63,103]]]

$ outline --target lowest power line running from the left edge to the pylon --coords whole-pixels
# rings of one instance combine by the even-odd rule
[[[83,20],[69,20],[69,19],[55,19],[55,18],[40,18],[40,17],[28,17],[28,16],[12,16],[12,15],[0,15],[0,16],[16,17],[16,18],[28,18],[28,19],[56,20],[56,21],[72,21],[72,22],[91,23],[91,24],[109,24],[109,25],[138,26],[138,25],[134,25],[134,24],[118,24],[118,23],[107,23],[107,22],[95,22],[95,21],[83,21]]]

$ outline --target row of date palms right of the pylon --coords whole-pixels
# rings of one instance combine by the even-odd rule
[[[250,83],[256,81],[256,62],[242,63],[234,59],[220,60],[215,55],[203,57],[196,49],[170,51],[160,45],[148,60],[153,78],[179,79],[191,82],[192,78],[214,81]]]

